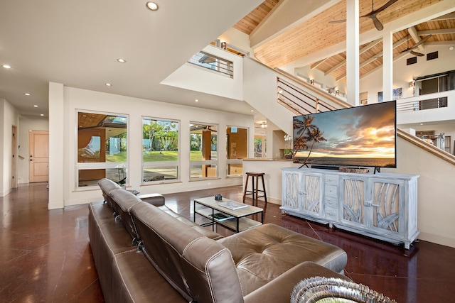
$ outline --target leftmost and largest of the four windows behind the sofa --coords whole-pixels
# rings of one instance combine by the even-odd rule
[[[77,113],[77,184],[97,186],[108,178],[127,182],[127,116]]]

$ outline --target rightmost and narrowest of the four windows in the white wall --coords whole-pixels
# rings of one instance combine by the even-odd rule
[[[248,157],[248,130],[237,126],[226,128],[226,175],[243,175],[242,158]]]

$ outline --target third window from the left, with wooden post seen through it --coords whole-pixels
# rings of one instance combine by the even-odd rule
[[[217,126],[190,124],[190,180],[218,177]]]

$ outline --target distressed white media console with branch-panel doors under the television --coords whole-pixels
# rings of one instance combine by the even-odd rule
[[[418,175],[282,168],[281,209],[292,216],[409,249],[417,231]]]

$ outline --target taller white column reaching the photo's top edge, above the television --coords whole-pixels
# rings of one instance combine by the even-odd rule
[[[360,104],[359,97],[359,0],[346,1],[346,79],[348,102]]]

